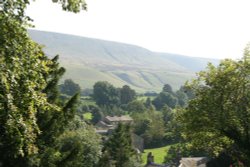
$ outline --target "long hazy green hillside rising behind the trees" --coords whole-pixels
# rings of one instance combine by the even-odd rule
[[[49,57],[60,55],[60,63],[67,69],[64,78],[73,79],[82,88],[105,80],[118,87],[127,84],[140,92],[160,91],[166,83],[178,89],[208,62],[219,62],[74,35],[37,30],[29,30],[29,34],[45,46]]]

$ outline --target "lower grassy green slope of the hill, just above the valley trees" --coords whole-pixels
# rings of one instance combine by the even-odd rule
[[[186,80],[194,76],[193,73],[185,72],[166,72],[163,70],[120,70],[110,69],[101,70],[98,67],[88,67],[77,62],[69,63],[61,61],[63,67],[66,68],[66,73],[63,79],[73,79],[81,88],[93,88],[93,85],[98,81],[108,81],[115,87],[129,85],[138,93],[146,91],[161,91],[163,85],[168,83],[174,90],[179,89]]]

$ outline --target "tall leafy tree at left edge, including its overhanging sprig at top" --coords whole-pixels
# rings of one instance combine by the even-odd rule
[[[73,12],[85,6],[84,1],[56,2]],[[73,104],[60,108],[45,94],[54,63],[28,36],[27,5],[28,0],[0,1],[0,162],[10,167],[39,162],[37,140],[44,131],[37,122],[38,111],[68,113]]]

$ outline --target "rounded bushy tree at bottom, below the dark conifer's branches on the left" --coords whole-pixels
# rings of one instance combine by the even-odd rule
[[[94,128],[75,117],[56,139],[55,147],[50,148],[42,164],[49,167],[94,167],[101,157],[100,143],[100,136]]]

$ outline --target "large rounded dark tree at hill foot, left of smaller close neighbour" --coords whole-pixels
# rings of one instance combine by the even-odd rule
[[[119,91],[106,81],[99,81],[94,85],[93,99],[99,106],[119,105]]]

